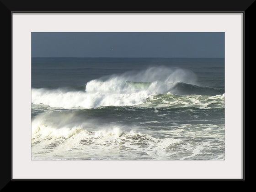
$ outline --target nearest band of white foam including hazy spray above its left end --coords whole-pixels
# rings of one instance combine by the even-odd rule
[[[223,141],[224,137],[224,132],[216,132],[219,126],[210,124],[177,125],[178,128],[173,126],[170,130],[159,127],[155,132],[145,129],[145,126],[159,123],[158,121],[144,122],[143,127],[119,123],[94,125],[90,120],[80,122],[76,115],[76,112],[70,111],[46,112],[33,118],[33,159],[139,160],[145,154],[149,159],[152,157],[155,160],[178,160],[182,157],[197,159],[207,149],[205,142],[210,141],[202,140],[200,145],[203,147],[200,147],[197,145],[198,141],[185,141],[184,137],[203,138],[210,135],[219,141]],[[216,147],[214,142],[208,145]]]

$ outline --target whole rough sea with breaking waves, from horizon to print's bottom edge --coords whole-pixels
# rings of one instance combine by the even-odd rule
[[[32,58],[32,160],[224,160],[224,58]]]

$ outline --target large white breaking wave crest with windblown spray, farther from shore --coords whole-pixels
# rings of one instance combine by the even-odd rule
[[[150,95],[167,93],[177,82],[195,83],[191,71],[152,67],[145,71],[110,76],[107,80],[87,82],[85,91],[32,88],[32,103],[52,107],[133,106],[143,103]],[[134,82],[134,83],[127,83]],[[141,82],[140,86],[136,82]],[[143,83],[145,83],[144,86]]]

